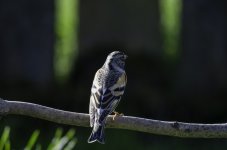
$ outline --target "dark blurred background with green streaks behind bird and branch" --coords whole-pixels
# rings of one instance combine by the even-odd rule
[[[121,50],[128,84],[117,111],[158,120],[227,121],[227,9],[207,0],[0,1],[0,97],[88,113],[94,74]],[[40,129],[75,128],[75,149],[226,149],[226,139],[181,139],[107,129],[106,144],[87,144],[90,128],[23,116],[0,120],[21,149]]]

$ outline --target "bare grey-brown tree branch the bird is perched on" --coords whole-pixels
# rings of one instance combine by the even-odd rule
[[[60,124],[89,127],[89,114],[58,110],[33,103],[0,99],[0,115],[24,115]],[[197,124],[177,121],[159,121],[131,116],[112,116],[107,128],[127,129],[159,135],[184,138],[227,138],[227,124]]]

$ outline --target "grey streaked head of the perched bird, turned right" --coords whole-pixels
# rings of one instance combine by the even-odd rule
[[[105,64],[114,69],[124,69],[127,55],[120,51],[114,51],[107,56]]]

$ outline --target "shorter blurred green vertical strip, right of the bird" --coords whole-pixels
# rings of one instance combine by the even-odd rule
[[[160,0],[159,5],[164,52],[175,59],[179,53],[182,0]]]

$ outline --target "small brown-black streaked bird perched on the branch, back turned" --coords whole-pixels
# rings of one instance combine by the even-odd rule
[[[96,72],[91,88],[89,114],[90,126],[93,127],[88,143],[98,141],[105,144],[104,128],[106,118],[115,112],[115,108],[124,94],[127,83],[125,60],[127,55],[114,51],[107,56],[104,65]],[[113,117],[113,120],[114,120]]]

